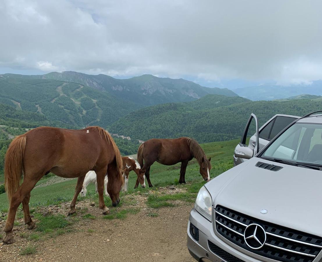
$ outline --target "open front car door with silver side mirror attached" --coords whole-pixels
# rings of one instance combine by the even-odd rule
[[[247,145],[247,135],[251,123],[255,122],[255,141],[250,140]],[[259,128],[258,128],[258,119],[255,114],[251,114],[250,118],[247,121],[244,133],[240,143],[236,146],[234,152],[234,166],[241,164],[245,160],[248,160],[255,156],[259,152]]]

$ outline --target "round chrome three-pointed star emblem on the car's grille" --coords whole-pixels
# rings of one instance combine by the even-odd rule
[[[258,224],[250,224],[245,229],[244,240],[250,248],[260,249],[266,242],[265,229]]]

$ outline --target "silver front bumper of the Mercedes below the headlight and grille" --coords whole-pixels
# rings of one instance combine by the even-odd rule
[[[194,240],[190,234],[190,223],[192,223],[196,228],[199,229],[199,241]],[[222,254],[219,256],[215,254],[212,249],[209,247],[209,241],[216,245],[221,252],[217,254]],[[246,262],[258,262],[258,261],[275,261],[271,259],[256,259],[245,253],[242,253],[240,250],[233,248],[219,238],[213,230],[213,224],[209,222],[206,218],[201,216],[195,209],[192,209],[190,212],[188,229],[187,229],[187,247],[192,255],[197,261],[202,261],[202,259],[209,259],[210,261],[246,261]],[[246,251],[246,250],[245,250]],[[248,251],[246,251],[248,252]],[[230,259],[225,260],[224,257],[229,257]],[[256,255],[255,255],[256,256]]]

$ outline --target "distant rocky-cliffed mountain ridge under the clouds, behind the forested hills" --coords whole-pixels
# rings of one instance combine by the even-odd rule
[[[167,102],[193,101],[207,94],[237,96],[236,93],[226,88],[208,88],[184,79],[159,78],[147,74],[130,79],[116,79],[104,74],[87,75],[72,71],[33,76],[13,74],[4,74],[3,76],[76,82],[145,106]]]

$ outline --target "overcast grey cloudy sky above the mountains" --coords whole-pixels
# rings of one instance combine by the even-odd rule
[[[2,0],[0,73],[309,83],[322,79],[321,10],[320,0]]]

